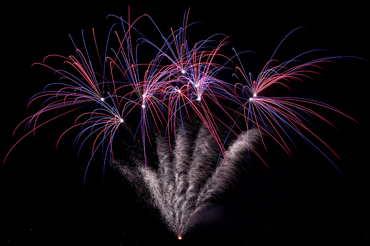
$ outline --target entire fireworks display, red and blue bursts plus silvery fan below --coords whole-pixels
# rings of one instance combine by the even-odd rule
[[[122,29],[113,31],[111,28],[104,63],[100,61],[102,75],[92,67],[95,62],[90,59],[84,38],[85,54],[76,47],[77,57],[48,56],[42,64],[35,63],[53,69],[46,62],[56,57],[63,59],[64,66],[68,65],[71,70],[53,69],[60,75],[59,82],[48,85],[43,93],[30,100],[34,103],[46,98],[43,108],[16,130],[25,124],[31,129],[26,135],[31,134],[48,122],[37,124],[39,116],[51,110],[65,108],[67,112],[63,115],[73,115],[74,111],[88,109],[74,116],[75,125],[66,131],[81,128],[75,145],[82,146],[92,139],[91,158],[101,148],[104,164],[109,160],[139,194],[147,196],[179,238],[194,225],[194,216],[208,209],[212,198],[230,187],[238,173],[238,165],[246,156],[250,152],[258,155],[255,151],[257,139],[265,145],[266,136],[269,136],[291,156],[287,142],[287,139],[293,142],[288,134],[291,131],[327,157],[314,142],[331,149],[310,129],[311,123],[306,118],[328,121],[309,106],[340,111],[312,100],[265,97],[263,91],[273,84],[289,88],[288,82],[304,81],[317,74],[320,63],[344,57],[300,62],[298,59],[304,59],[309,53],[306,52],[284,63],[271,58],[253,80],[246,74],[248,64],[242,65],[240,54],[225,55],[223,49],[230,45],[225,35],[214,35],[189,49],[186,40],[189,31],[186,30],[192,24],[188,25],[188,14],[184,16],[183,27],[176,31],[171,29],[167,38],[147,15],[132,23],[115,18]],[[149,18],[149,24],[158,30],[160,41],[164,40],[162,46],[149,41],[135,27],[145,18]],[[122,30],[123,38],[120,38]],[[93,34],[95,39],[94,31]],[[143,44],[149,44],[147,49],[151,52],[145,50]],[[96,41],[95,46],[100,59]],[[153,50],[157,53],[154,59],[139,63],[140,58],[147,57]],[[233,72],[228,80],[236,77],[238,83],[219,79],[220,73],[225,76],[230,71]],[[137,128],[131,131],[125,119],[135,119],[132,116],[138,114]],[[195,126],[198,120],[201,126],[189,129],[189,125]],[[127,128],[122,131],[132,132],[135,139],[139,136],[142,145],[143,155],[134,158],[131,165],[113,157],[113,139],[121,126]],[[154,148],[159,157],[157,170],[149,165],[147,155]],[[265,149],[267,151],[266,146]]]

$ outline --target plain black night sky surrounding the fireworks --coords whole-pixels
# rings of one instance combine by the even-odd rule
[[[182,26],[188,8],[189,4],[166,7],[130,4],[130,18],[148,14],[168,36],[171,27],[177,30]],[[325,49],[332,53],[318,52],[312,59],[323,56],[370,59],[369,20],[362,8],[300,4],[288,10],[288,6],[264,4],[191,5],[189,22],[202,23],[186,35],[189,46],[217,33],[231,36],[225,49],[255,52],[243,55],[243,64],[257,77],[283,38],[297,27],[307,28],[290,35],[274,58],[284,62],[309,50]],[[113,19],[107,21],[109,14],[127,20],[128,3],[104,7],[67,3],[14,6],[7,13],[2,35],[6,42],[2,65],[3,160],[24,136],[23,124],[12,140],[14,129],[40,110],[38,102],[27,112],[30,98],[57,81],[50,69],[31,65],[42,63],[51,54],[76,55],[68,35],[84,49],[81,30],[85,30],[85,41],[92,42],[92,28],[103,54],[104,40],[115,23]],[[148,25],[148,38],[158,38],[151,28]],[[96,54],[96,50],[91,49],[91,53]],[[100,66],[95,61],[93,66]],[[61,62],[55,64],[63,68]],[[322,65],[322,75],[314,75],[305,83],[292,83],[297,97],[332,105],[359,122],[318,108],[317,112],[337,129],[317,119],[311,121],[316,127],[312,128],[314,133],[340,160],[324,145],[319,145],[320,149],[346,178],[322,153],[298,136],[293,136],[297,149],[289,146],[293,158],[269,139],[268,153],[262,147],[259,154],[270,170],[252,156],[251,164],[243,165],[239,182],[216,200],[215,207],[203,215],[204,221],[177,242],[176,236],[138,200],[131,186],[108,163],[104,167],[102,156],[91,161],[83,184],[91,143],[86,143],[77,157],[73,141],[78,131],[71,131],[55,148],[60,135],[74,124],[75,115],[71,114],[39,128],[35,137],[24,138],[7,157],[1,169],[0,242],[20,245],[234,245],[240,239],[249,245],[363,242],[369,237],[369,128],[364,104],[369,64],[356,58],[336,59],[335,63]],[[269,93],[280,96],[275,91]],[[51,112],[39,120],[45,122],[55,114]],[[122,133],[117,137],[128,135]],[[127,150],[121,147],[116,150],[118,155],[127,157]]]

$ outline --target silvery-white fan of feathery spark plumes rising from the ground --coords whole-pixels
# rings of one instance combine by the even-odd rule
[[[195,129],[179,125],[175,137],[170,146],[168,138],[157,135],[157,169],[145,167],[143,155],[133,155],[132,163],[115,161],[112,166],[181,239],[197,215],[236,181],[240,164],[249,157],[248,149],[260,139],[255,129],[244,131],[220,155],[219,145],[204,124]]]

